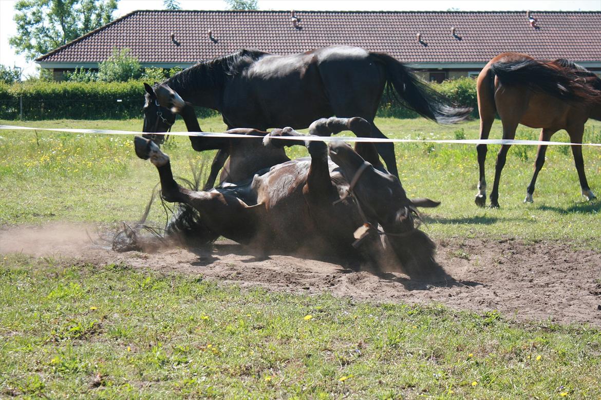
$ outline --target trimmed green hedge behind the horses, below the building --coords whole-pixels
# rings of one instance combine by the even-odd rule
[[[475,80],[465,77],[433,84],[457,104],[474,108],[477,116]],[[19,119],[20,99],[23,119],[125,119],[142,115],[144,88],[138,81],[130,82],[25,82],[0,83],[0,118]],[[119,101],[120,100],[120,101]],[[198,108],[201,118],[215,111]],[[378,116],[415,118],[411,110],[399,106],[385,94]]]

